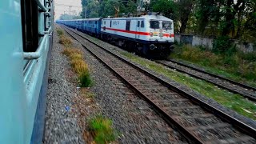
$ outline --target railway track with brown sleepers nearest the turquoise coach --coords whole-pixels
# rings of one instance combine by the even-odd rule
[[[255,143],[256,130],[236,118],[202,102],[178,87],[135,66],[104,46],[90,41],[75,30],[64,30],[103,62],[130,89],[150,103],[168,124],[178,129],[189,142]],[[87,44],[85,44],[87,42]],[[90,42],[90,45],[88,45]]]

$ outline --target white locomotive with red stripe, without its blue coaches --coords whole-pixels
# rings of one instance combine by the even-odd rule
[[[174,22],[162,15],[102,18],[102,38],[145,55],[169,55],[174,49]]]

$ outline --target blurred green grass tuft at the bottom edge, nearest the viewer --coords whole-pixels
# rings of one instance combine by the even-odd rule
[[[94,135],[94,141],[99,144],[110,143],[115,140],[116,134],[112,128],[112,121],[101,115],[90,119],[89,129]]]

